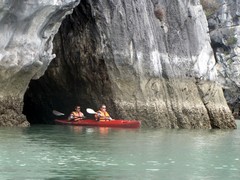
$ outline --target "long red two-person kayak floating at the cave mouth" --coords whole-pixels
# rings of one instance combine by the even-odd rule
[[[83,119],[78,121],[69,121],[55,119],[57,124],[73,125],[73,126],[98,126],[98,127],[119,127],[119,128],[139,128],[141,122],[137,120],[111,120],[111,121],[95,121],[93,119]]]

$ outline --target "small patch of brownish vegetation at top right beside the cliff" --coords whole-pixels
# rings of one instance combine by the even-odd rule
[[[200,0],[200,1],[207,17],[214,14],[220,7],[220,4],[216,0]]]

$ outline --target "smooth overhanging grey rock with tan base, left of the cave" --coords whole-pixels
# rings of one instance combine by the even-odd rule
[[[23,96],[43,75],[63,17],[79,1],[3,0],[0,3],[0,126],[28,126]]]

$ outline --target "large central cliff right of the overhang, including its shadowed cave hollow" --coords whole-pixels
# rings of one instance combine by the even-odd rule
[[[82,0],[55,37],[56,58],[30,83],[28,119],[105,103],[150,127],[236,128],[207,27],[198,0]]]

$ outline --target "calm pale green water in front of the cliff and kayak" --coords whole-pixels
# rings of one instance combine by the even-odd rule
[[[240,130],[0,128],[0,180],[27,179],[239,180]]]

